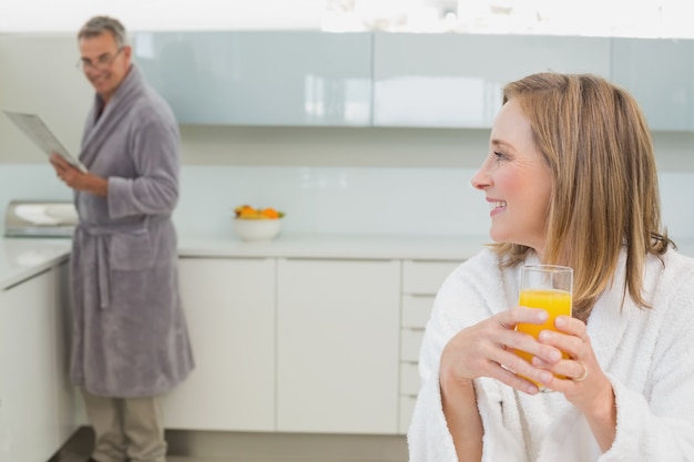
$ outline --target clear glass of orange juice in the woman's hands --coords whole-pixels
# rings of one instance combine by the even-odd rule
[[[542,330],[557,330],[554,320],[558,316],[571,316],[573,291],[573,269],[558,265],[525,265],[521,268],[521,283],[518,304],[529,308],[541,308],[549,312],[544,324],[518,324],[516,330],[538,338]],[[525,361],[532,361],[532,355],[516,350]],[[564,358],[568,356],[564,353]],[[562,378],[562,376],[557,376]],[[530,380],[530,379],[528,379]],[[540,391],[551,391],[531,380]]]

